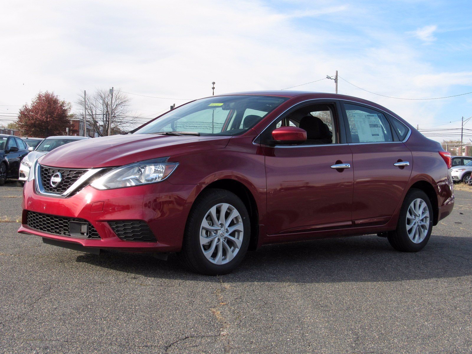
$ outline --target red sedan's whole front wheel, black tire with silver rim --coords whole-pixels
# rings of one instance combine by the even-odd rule
[[[243,260],[250,233],[249,213],[241,199],[224,189],[208,189],[192,206],[178,256],[195,273],[227,274]]]

